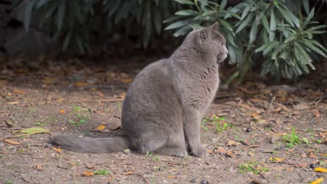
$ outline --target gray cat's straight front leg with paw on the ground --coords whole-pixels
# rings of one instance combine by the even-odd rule
[[[184,135],[189,146],[189,150],[196,157],[208,156],[206,151],[201,144],[201,114],[197,109],[193,107],[184,108],[183,110],[183,125]]]

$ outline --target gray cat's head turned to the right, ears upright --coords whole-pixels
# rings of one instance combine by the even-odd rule
[[[216,22],[211,26],[198,29],[189,33],[196,42],[196,49],[203,54],[214,54],[217,56],[217,62],[224,61],[228,56],[226,40],[218,32],[219,24]]]

